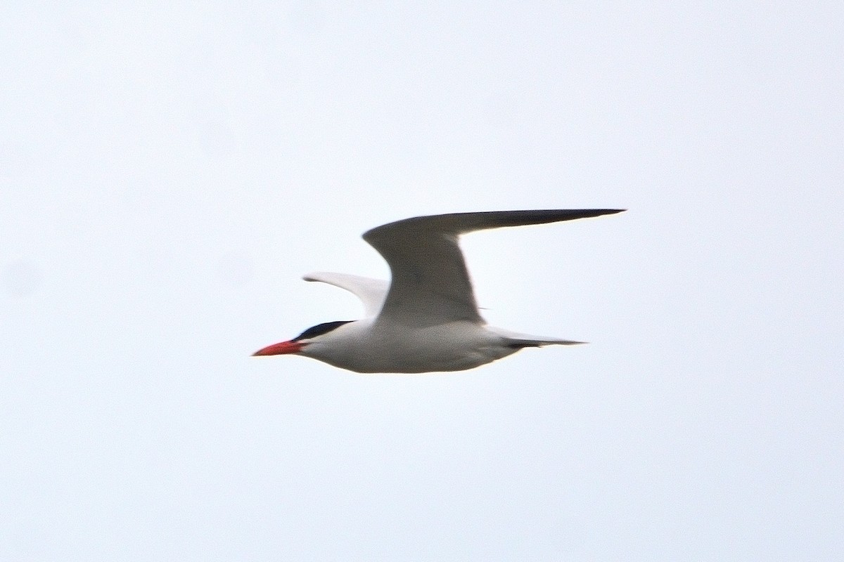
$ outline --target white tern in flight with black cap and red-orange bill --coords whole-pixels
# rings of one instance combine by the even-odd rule
[[[457,212],[372,228],[363,238],[387,261],[391,281],[324,271],[303,277],[352,292],[363,303],[365,318],[317,324],[252,355],[306,356],[360,373],[453,372],[527,347],[585,343],[488,325],[475,302],[459,237],[621,211],[625,209]]]

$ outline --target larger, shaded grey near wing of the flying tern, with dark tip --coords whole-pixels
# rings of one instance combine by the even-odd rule
[[[378,321],[429,326],[459,320],[483,323],[466,263],[457,244],[464,233],[486,228],[571,221],[621,209],[463,212],[407,218],[372,228],[366,242],[387,260],[392,272]]]

